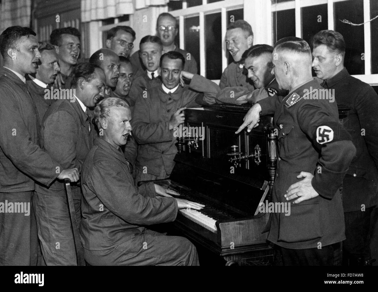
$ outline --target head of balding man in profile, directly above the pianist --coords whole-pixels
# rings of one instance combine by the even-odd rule
[[[105,72],[105,98],[114,97],[113,89],[116,87],[119,77],[118,55],[110,49],[100,49],[92,54],[89,62],[100,67]]]

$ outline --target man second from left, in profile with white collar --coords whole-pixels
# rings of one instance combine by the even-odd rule
[[[58,55],[53,45],[50,43],[39,43],[38,50],[41,57],[39,58],[37,72],[26,76],[26,84],[31,90],[31,96],[37,107],[39,121],[42,123],[46,110],[54,101],[52,96],[51,98],[45,98],[46,89],[51,90],[60,67],[58,64]]]

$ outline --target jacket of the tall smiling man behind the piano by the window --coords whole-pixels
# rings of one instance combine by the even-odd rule
[[[230,99],[230,96],[234,96],[236,99],[255,90],[251,78],[243,74],[243,70],[243,65],[235,62],[226,67],[220,78],[220,92],[217,93],[217,101],[225,102]]]

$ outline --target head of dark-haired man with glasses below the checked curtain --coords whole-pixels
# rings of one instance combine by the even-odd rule
[[[108,30],[105,45],[118,56],[128,58],[134,47],[135,31],[126,25],[117,25]]]

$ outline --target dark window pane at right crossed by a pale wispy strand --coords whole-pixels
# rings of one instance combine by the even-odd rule
[[[352,23],[364,22],[363,0],[351,0],[336,2],[335,4],[335,30],[342,34],[345,40],[344,66],[349,74],[365,74],[365,64],[361,60],[364,53],[364,26],[352,26],[343,23],[341,19],[347,19]]]

